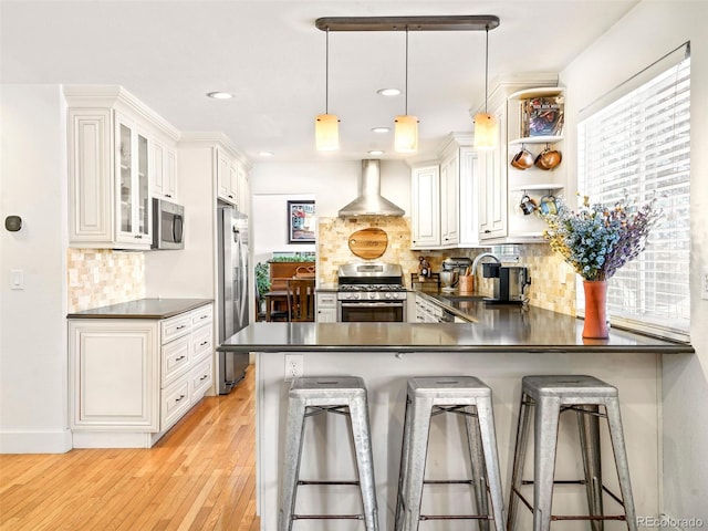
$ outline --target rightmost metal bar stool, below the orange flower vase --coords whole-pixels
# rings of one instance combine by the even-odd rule
[[[601,412],[600,406],[603,407],[604,413]],[[532,408],[534,408],[533,481],[525,481],[521,476],[525,462]],[[574,410],[577,414],[580,429],[585,478],[577,481],[554,480],[559,419],[561,413],[568,410]],[[602,482],[601,417],[607,420],[622,498],[610,491]],[[593,531],[603,530],[605,520],[624,520],[629,530],[636,531],[637,523],[617,388],[593,376],[524,376],[511,482],[508,531],[514,529],[519,500],[533,512],[534,531],[548,531],[551,522],[556,520],[589,520]],[[590,516],[552,514],[553,486],[558,483],[585,485]],[[522,485],[533,485],[533,504],[521,493]],[[603,492],[624,508],[624,514],[606,516],[604,513]]]

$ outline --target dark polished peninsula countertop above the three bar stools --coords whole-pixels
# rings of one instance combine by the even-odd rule
[[[694,348],[612,330],[584,340],[583,322],[554,312],[493,310],[478,323],[252,323],[219,351],[240,352],[644,352],[690,354]]]

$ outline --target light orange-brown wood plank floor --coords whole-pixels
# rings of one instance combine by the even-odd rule
[[[0,530],[259,530],[254,372],[150,449],[0,455]]]

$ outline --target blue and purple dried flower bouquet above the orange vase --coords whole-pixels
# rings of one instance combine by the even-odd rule
[[[637,207],[625,199],[614,207],[591,205],[583,197],[574,212],[562,198],[558,212],[542,215],[548,227],[543,232],[551,249],[560,253],[583,280],[607,280],[634,260],[645,248],[649,230],[662,218],[656,197]]]

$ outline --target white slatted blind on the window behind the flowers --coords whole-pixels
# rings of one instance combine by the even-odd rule
[[[687,54],[686,54],[687,55]],[[657,194],[664,219],[646,250],[607,283],[611,323],[688,340],[690,322],[690,58],[579,125],[579,187],[591,202]],[[577,308],[584,308],[582,284]]]

